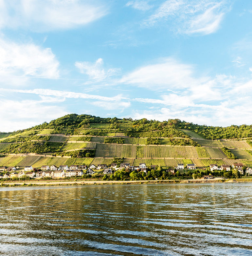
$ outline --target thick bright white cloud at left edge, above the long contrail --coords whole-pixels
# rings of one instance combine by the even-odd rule
[[[1,76],[59,77],[59,62],[50,48],[0,39]]]

